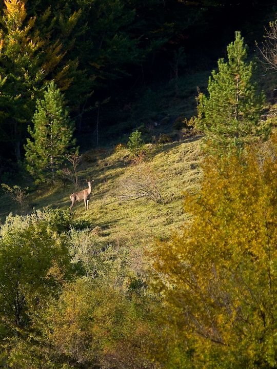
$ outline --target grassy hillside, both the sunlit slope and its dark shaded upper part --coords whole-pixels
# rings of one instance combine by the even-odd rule
[[[118,142],[127,142],[131,129],[157,121],[154,131],[146,133],[148,142],[151,136],[177,131],[172,125],[176,117],[190,117],[195,114],[197,87],[204,90],[210,72],[186,74],[178,80],[179,93],[175,94],[175,81],[151,86],[142,91],[132,102],[131,111],[119,111],[120,124],[105,131],[109,146],[99,150],[89,150],[83,155],[78,167],[81,189],[85,189],[86,179],[94,179],[90,207],[85,212],[84,202],[73,207],[73,219],[86,220],[91,228],[101,227],[101,242],[120,242],[128,245],[142,245],[153,242],[155,237],[168,237],[180,230],[188,215],[183,211],[184,191],[195,191],[199,186],[200,141],[174,141],[164,145],[148,144],[148,165],[155,178],[163,203],[155,203],[148,198],[125,200],[124,183],[136,174],[136,167],[128,160],[128,151],[114,152]],[[124,114],[125,115],[124,115]],[[125,119],[124,119],[125,117]],[[163,118],[168,118],[163,121]],[[129,132],[129,133],[123,133]],[[175,135],[175,133],[176,135]],[[110,139],[107,139],[110,137]],[[147,140],[146,140],[147,141]],[[57,187],[42,186],[29,194],[29,211],[44,207],[61,208],[69,211],[70,194],[73,185],[66,183]],[[2,200],[0,219],[3,222],[8,213],[21,213],[18,203],[8,197]]]

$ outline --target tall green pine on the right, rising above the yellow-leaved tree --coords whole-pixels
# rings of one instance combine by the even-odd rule
[[[253,81],[254,63],[247,62],[247,45],[240,32],[227,47],[228,62],[218,61],[218,72],[209,78],[209,96],[197,100],[197,126],[215,148],[243,148],[247,142],[267,138],[269,127],[260,120],[264,94]]]

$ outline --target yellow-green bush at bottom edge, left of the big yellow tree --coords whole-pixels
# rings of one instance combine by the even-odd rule
[[[72,308],[74,306],[74,308]],[[152,369],[154,301],[80,278],[46,311],[46,334],[65,366]],[[51,327],[51,329],[47,329]]]

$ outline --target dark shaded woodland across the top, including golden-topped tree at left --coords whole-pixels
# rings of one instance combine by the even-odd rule
[[[120,131],[126,120],[123,132],[137,126],[139,117],[130,116],[138,95],[155,83],[160,88],[161,81],[212,69],[235,30],[253,50],[274,12],[272,2],[259,1],[7,4],[2,5],[1,173],[10,160],[24,161],[35,101],[50,80],[65,93],[77,145],[97,146],[99,140],[107,145],[116,138],[105,134],[111,126]]]

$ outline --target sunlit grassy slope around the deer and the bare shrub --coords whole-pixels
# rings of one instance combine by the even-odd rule
[[[101,227],[101,239],[105,242],[147,244],[155,237],[168,237],[179,230],[187,215],[183,211],[184,191],[195,191],[199,186],[200,141],[172,142],[165,145],[149,145],[147,165],[155,178],[157,188],[164,199],[155,203],[148,198],[124,200],[124,183],[133,178],[137,167],[131,165],[128,150],[120,152],[98,150],[84,155],[79,176],[86,188],[85,179],[94,179],[89,210],[84,202],[73,207],[73,218],[86,220],[91,228]],[[30,193],[30,208],[43,207],[68,209],[71,185],[43,187]],[[9,213],[18,212],[16,204],[3,202],[0,216],[4,221]]]

